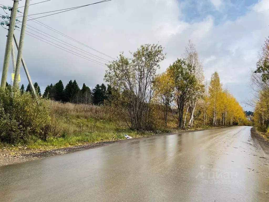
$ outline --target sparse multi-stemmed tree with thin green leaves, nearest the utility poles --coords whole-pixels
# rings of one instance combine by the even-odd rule
[[[121,53],[108,65],[104,80],[121,95],[114,101],[120,109],[118,116],[131,129],[151,130],[157,125],[156,113],[153,113],[153,83],[164,59],[162,46],[145,44],[137,48],[131,58]]]

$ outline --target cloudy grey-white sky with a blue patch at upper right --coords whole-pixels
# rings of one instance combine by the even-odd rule
[[[40,1],[44,0],[32,0],[31,4]],[[24,2],[24,0],[20,1],[19,6],[23,6]],[[94,2],[96,1],[51,0],[31,5],[29,15]],[[12,1],[1,0],[1,4],[11,6]],[[20,8],[20,11],[23,12],[23,8]],[[5,13],[0,10],[0,14]],[[43,15],[47,14],[31,17]],[[22,17],[18,19],[22,20]],[[135,51],[141,44],[161,44],[167,56],[161,63],[160,72],[165,71],[170,63],[181,57],[187,41],[191,39],[204,61],[206,79],[210,79],[211,74],[218,71],[224,87],[228,87],[244,109],[252,110],[242,102],[249,97],[250,90],[247,87],[249,72],[250,68],[255,68],[257,51],[268,36],[268,19],[268,0],[112,0],[47,16],[38,21],[113,58],[116,58],[121,51],[126,53]],[[17,25],[20,27],[20,23]],[[105,60],[112,60],[106,55],[38,25],[33,20],[28,21],[27,25]],[[28,28],[33,29],[32,27]],[[26,30],[57,43],[32,30]],[[0,27],[1,65],[5,53],[6,34],[7,30]],[[19,40],[18,30],[16,35]],[[79,51],[76,52],[100,61]],[[25,36],[23,57],[33,82],[38,82],[42,90],[48,84],[56,83],[60,79],[64,85],[69,80],[76,79],[80,87],[83,83],[94,87],[97,83],[104,82],[106,67],[67,53],[28,35]],[[9,83],[11,73],[10,61]],[[26,86],[27,78],[23,68],[21,77],[20,84],[24,83]]]

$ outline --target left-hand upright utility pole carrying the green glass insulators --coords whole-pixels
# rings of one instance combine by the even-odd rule
[[[2,79],[1,79],[1,88],[3,89],[6,88],[6,79],[8,77],[8,66],[9,66],[9,60],[10,60],[10,54],[11,54],[11,47],[12,47],[12,41],[13,41],[13,34],[14,34],[18,4],[19,4],[18,0],[13,1],[13,7],[11,10],[11,15],[10,15],[8,39],[6,41],[6,51],[5,51]]]

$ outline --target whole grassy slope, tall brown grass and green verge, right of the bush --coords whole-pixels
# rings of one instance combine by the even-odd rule
[[[13,147],[27,145],[31,149],[56,149],[94,142],[125,139],[154,135],[153,132],[132,131],[125,124],[116,121],[105,107],[94,105],[76,105],[71,103],[51,103],[52,126],[46,141],[31,137],[27,143],[18,143]],[[0,147],[12,147],[1,143]]]

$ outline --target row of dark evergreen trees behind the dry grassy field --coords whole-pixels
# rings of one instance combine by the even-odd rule
[[[37,82],[34,83],[36,93],[41,96],[40,87]],[[31,92],[30,84],[24,89],[22,84],[21,93]],[[55,100],[58,102],[70,102],[76,104],[95,104],[102,105],[104,100],[107,100],[112,95],[111,85],[97,84],[92,90],[83,83],[82,88],[79,88],[76,80],[70,80],[64,87],[63,82],[59,80],[55,84],[50,84],[45,88],[43,93],[44,98]]]

